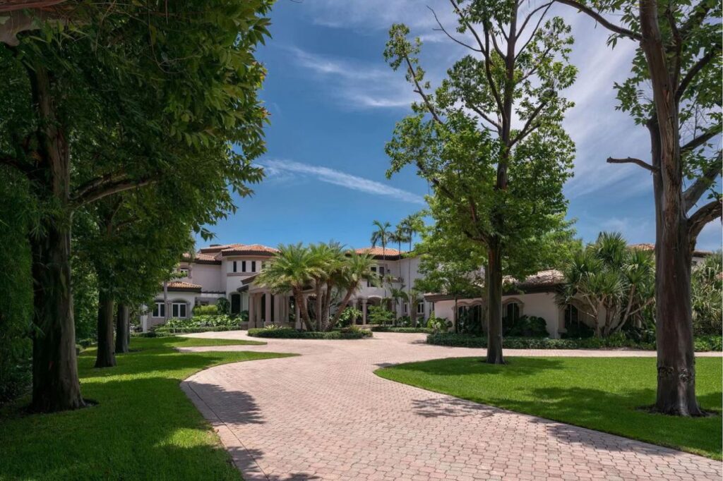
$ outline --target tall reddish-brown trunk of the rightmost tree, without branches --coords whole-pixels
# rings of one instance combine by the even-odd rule
[[[641,48],[653,90],[651,123],[656,212],[655,298],[658,389],[654,410],[669,415],[702,415],[696,400],[693,316],[690,306],[690,235],[683,202],[677,72],[668,68],[658,25],[657,4],[640,0]]]

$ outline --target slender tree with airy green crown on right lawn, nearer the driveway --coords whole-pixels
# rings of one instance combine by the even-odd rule
[[[549,230],[550,218],[566,209],[562,184],[571,175],[574,146],[562,129],[571,103],[560,90],[576,77],[568,64],[573,40],[562,19],[546,17],[549,4],[450,4],[458,35],[466,36],[441,23],[440,29],[470,53],[435,91],[419,66],[419,38],[408,40],[405,25],[390,29],[385,58],[406,71],[420,100],[387,146],[388,175],[416,165],[435,194],[432,217],[448,217],[487,249],[487,362],[504,363],[505,248]]]

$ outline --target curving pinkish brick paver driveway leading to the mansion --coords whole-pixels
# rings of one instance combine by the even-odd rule
[[[248,339],[243,332],[193,334]],[[244,480],[721,480],[722,464],[375,376],[389,363],[480,355],[424,335],[268,339],[187,350],[297,352],[210,368],[181,386]],[[513,355],[654,352],[506,350]]]

